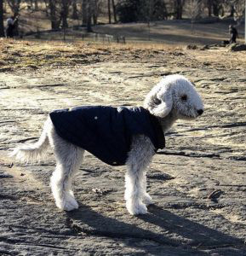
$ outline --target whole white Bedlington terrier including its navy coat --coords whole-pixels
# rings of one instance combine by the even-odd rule
[[[51,146],[57,165],[50,185],[56,206],[66,211],[78,208],[72,177],[84,150],[112,166],[126,165],[127,210],[145,214],[152,204],[146,192],[146,167],[164,147],[164,133],[177,119],[196,119],[202,113],[203,101],[192,83],[181,75],[169,75],[147,94],[144,108],[86,106],[50,113],[37,143],[14,148],[12,155],[25,162],[40,160]]]

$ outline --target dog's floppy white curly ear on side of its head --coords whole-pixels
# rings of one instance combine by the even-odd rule
[[[153,115],[164,118],[173,108],[173,97],[169,87],[153,88],[146,96],[145,107]]]

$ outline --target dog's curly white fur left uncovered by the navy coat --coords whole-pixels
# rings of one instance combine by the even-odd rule
[[[203,113],[203,102],[192,83],[181,75],[170,75],[161,80],[146,96],[144,108],[157,116],[163,132],[169,130],[177,119],[196,119]],[[57,135],[48,118],[37,143],[22,145],[12,155],[22,161],[38,160],[51,146],[57,161],[51,177],[51,189],[56,206],[62,210],[77,209],[72,192],[72,177],[83,160],[83,148],[68,143]],[[146,192],[146,167],[155,154],[149,137],[133,137],[129,158],[126,162],[125,201],[130,214],[144,214],[152,197]]]

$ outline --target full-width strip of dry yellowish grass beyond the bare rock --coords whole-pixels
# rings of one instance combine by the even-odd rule
[[[103,61],[152,62],[163,65],[169,62],[178,67],[230,70],[246,67],[246,52],[230,52],[226,48],[189,50],[165,44],[0,40],[0,71],[75,67]]]

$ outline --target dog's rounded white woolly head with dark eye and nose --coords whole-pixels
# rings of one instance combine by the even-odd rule
[[[176,119],[196,119],[204,111],[201,96],[181,75],[169,75],[154,86],[146,96],[145,108],[157,117],[172,113]]]

